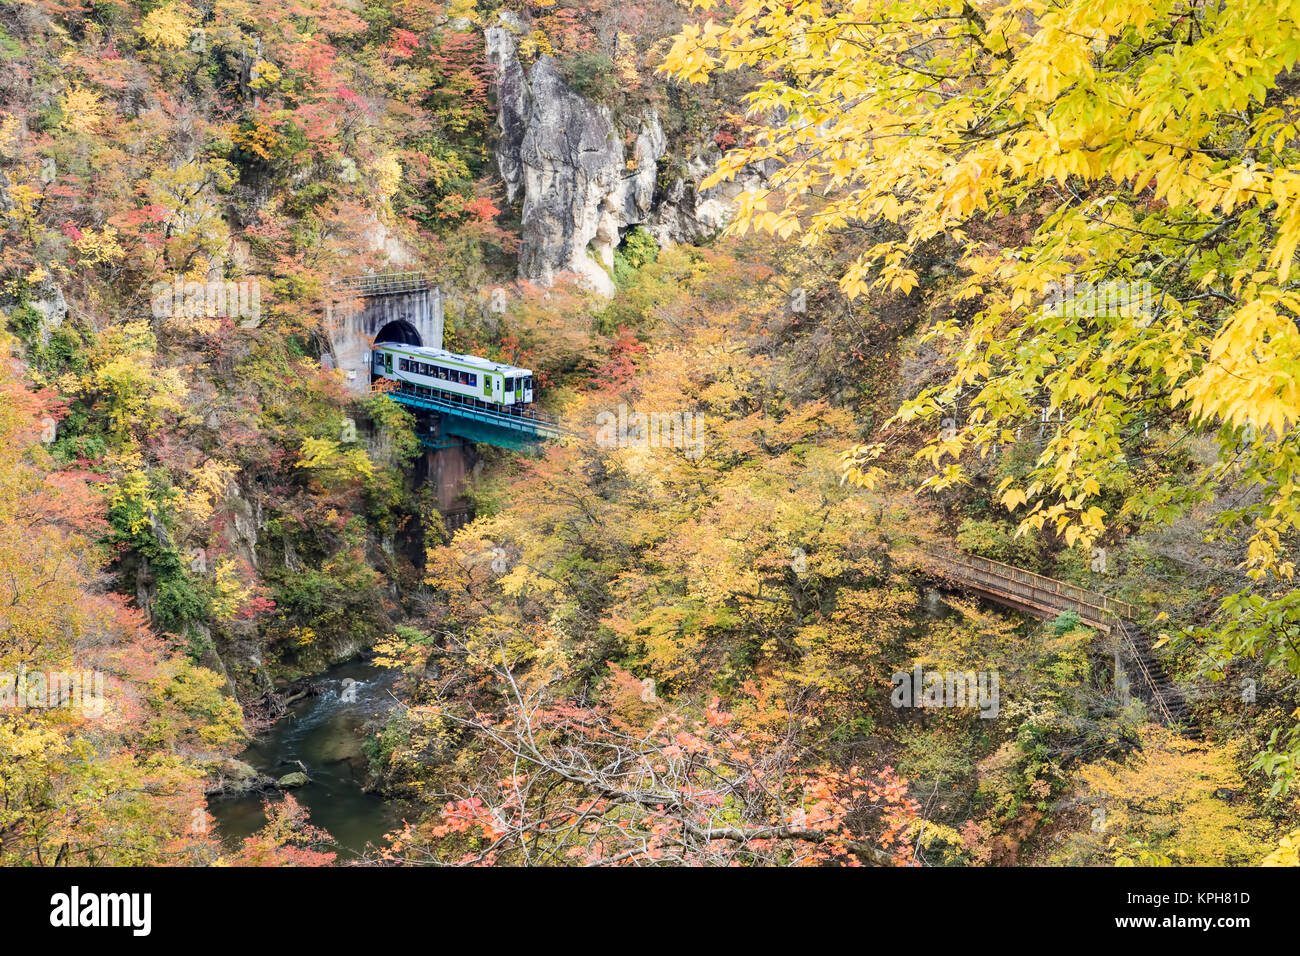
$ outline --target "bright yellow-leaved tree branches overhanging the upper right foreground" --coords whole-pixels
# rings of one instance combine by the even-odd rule
[[[741,68],[766,75],[746,98],[745,142],[710,179],[774,169],[742,195],[733,232],[819,246],[866,230],[840,280],[849,297],[916,286],[927,243],[961,258],[946,295],[968,302],[968,317],[932,329],[952,373],[893,420],[937,423],[961,399],[962,420],[918,453],[933,467],[923,486],[961,485],[1040,411],[1052,424],[1041,453],[997,489],[1022,531],[1092,546],[1115,524],[1170,520],[1235,486],[1245,503],[1206,532],[1252,529],[1243,557],[1254,583],[1201,635],[1209,666],[1244,656],[1300,672],[1300,178],[1287,79],[1297,12],[1087,0],[697,7],[712,12],[682,30],[663,69],[693,83]],[[1034,228],[994,241],[991,224],[1020,213]],[[1149,291],[1072,307],[1071,282]],[[1063,306],[1053,302],[1062,290]],[[1165,429],[1166,446],[1205,436],[1217,460],[1135,484],[1126,455],[1148,429]],[[888,447],[887,432],[853,450],[848,477],[879,483]],[[1258,766],[1284,788],[1300,730],[1275,743]]]

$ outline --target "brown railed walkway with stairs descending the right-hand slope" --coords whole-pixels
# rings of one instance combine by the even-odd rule
[[[1076,584],[953,548],[923,546],[916,550],[916,555],[926,571],[965,591],[1044,620],[1074,611],[1089,627],[1118,636],[1136,672],[1136,689],[1157,719],[1169,727],[1195,730],[1187,701],[1152,653],[1150,641],[1138,622],[1136,606]]]

